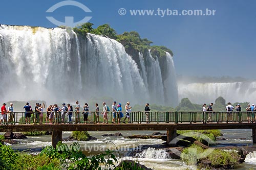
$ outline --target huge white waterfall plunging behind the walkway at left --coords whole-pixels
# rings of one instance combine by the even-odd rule
[[[168,64],[168,74],[172,74],[163,85],[158,58],[150,52],[140,54],[139,70],[116,40],[68,32],[60,28],[0,27],[1,100],[55,103],[110,96],[134,104],[165,104],[164,87],[168,93],[177,92],[172,62]],[[167,62],[168,58],[172,57],[167,55]],[[172,95],[176,99],[175,93]]]

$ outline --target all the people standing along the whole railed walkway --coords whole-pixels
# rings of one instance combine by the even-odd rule
[[[132,106],[130,105],[130,102],[126,102],[124,109],[125,112],[122,109],[122,104],[118,103],[116,101],[113,102],[110,107],[106,105],[105,102],[102,103],[102,111],[99,109],[98,103],[95,103],[95,109],[89,110],[89,105],[88,103],[85,103],[83,107],[80,107],[80,104],[78,101],[76,101],[76,105],[73,106],[71,104],[66,104],[62,103],[62,106],[59,107],[57,104],[54,105],[49,105],[44,112],[44,109],[46,108],[45,103],[36,103],[34,110],[33,108],[29,105],[29,103],[26,103],[26,105],[23,107],[25,109],[25,123],[30,124],[31,123],[31,118],[32,118],[32,123],[33,124],[43,124],[44,122],[44,115],[46,116],[46,122],[45,124],[52,124],[52,123],[80,123],[81,119],[83,120],[83,123],[87,124],[90,121],[99,124],[100,123],[100,114],[103,115],[103,124],[108,124],[109,119],[108,115],[112,113],[112,120],[110,123],[113,124],[120,124],[120,123],[131,123],[130,122],[130,116],[132,112]],[[212,106],[214,106],[214,103],[211,103],[209,106],[206,104],[203,104],[202,107],[202,113],[205,115],[207,114],[208,118],[205,122],[211,123],[212,122],[212,114],[215,114],[216,112],[212,109]],[[82,109],[81,109],[82,108]],[[144,113],[146,116],[146,123],[150,123],[150,104],[146,103]],[[241,105],[238,104],[236,107],[233,107],[231,103],[229,102],[228,105],[225,107],[226,110],[226,115],[227,115],[227,122],[233,122],[233,116],[235,120],[239,119],[239,114],[235,114],[234,111],[237,113],[241,112]],[[3,123],[9,123],[9,124],[14,124],[14,108],[13,108],[13,103],[10,103],[10,106],[6,108],[6,103],[3,104],[1,107],[1,119],[0,119],[0,124]],[[94,119],[89,120],[88,116],[89,114],[92,113],[92,116],[94,116]],[[255,122],[255,113],[256,113],[256,106],[252,104],[251,106],[248,105],[246,108],[246,114],[247,114],[247,122],[248,123],[253,123]],[[74,115],[73,115],[74,114]],[[124,115],[125,114],[125,115]],[[8,115],[8,116],[7,116]],[[66,121],[66,115],[68,121]],[[73,117],[73,120],[72,120]],[[8,118],[8,121],[7,121]],[[217,117],[216,117],[217,119]],[[221,122],[221,119],[218,120]],[[17,122],[17,120],[16,120]],[[202,115],[202,122],[204,122],[204,118]],[[256,123],[256,122],[255,122]]]

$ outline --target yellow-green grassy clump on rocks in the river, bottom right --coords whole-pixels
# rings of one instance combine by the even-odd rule
[[[189,165],[200,164],[201,160],[208,159],[215,168],[234,168],[239,162],[240,156],[236,151],[223,151],[220,149],[203,149],[193,144],[181,153],[181,159]]]

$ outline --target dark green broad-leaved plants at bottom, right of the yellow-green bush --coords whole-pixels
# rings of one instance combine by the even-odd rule
[[[58,142],[56,149],[52,146],[46,147],[42,150],[41,155],[47,155],[49,158],[60,160],[63,168],[68,170],[82,170],[82,169],[135,169],[134,165],[130,163],[123,163],[121,167],[117,167],[118,163],[113,151],[106,151],[105,153],[86,157],[80,150],[80,145],[74,142],[67,146],[65,143]],[[135,163],[136,164],[136,163]],[[138,169],[138,168],[136,168]],[[139,168],[142,169],[142,168]]]

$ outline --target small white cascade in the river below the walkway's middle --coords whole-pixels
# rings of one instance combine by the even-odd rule
[[[164,149],[147,148],[141,153],[137,153],[135,157],[147,159],[169,159],[169,154]]]

